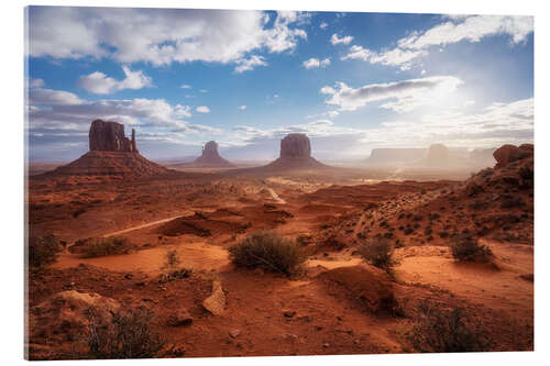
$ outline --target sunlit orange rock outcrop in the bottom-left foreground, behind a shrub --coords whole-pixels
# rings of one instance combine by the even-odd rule
[[[90,314],[98,326],[107,326],[120,303],[98,293],[67,290],[52,295],[30,311],[31,336],[73,341],[88,330]]]

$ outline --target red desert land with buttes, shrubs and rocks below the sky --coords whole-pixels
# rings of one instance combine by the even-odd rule
[[[299,133],[256,167],[138,148],[96,120],[28,177],[30,359],[534,348],[532,145],[452,174],[333,167]]]

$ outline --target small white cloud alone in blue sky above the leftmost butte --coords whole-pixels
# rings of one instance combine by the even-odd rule
[[[122,66],[125,78],[117,80],[108,77],[103,73],[95,71],[80,76],[78,86],[95,95],[110,95],[123,89],[142,89],[151,87],[152,80],[142,70],[132,71],[128,66]]]

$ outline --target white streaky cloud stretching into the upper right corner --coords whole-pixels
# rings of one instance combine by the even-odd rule
[[[449,18],[424,32],[413,32],[397,41],[397,47],[375,52],[353,45],[348,54],[341,57],[345,59],[361,59],[371,64],[398,66],[409,69],[411,63],[428,55],[429,48],[441,47],[459,42],[480,42],[482,38],[493,35],[507,35],[512,44],[525,42],[532,33],[532,16],[519,15],[461,15]]]

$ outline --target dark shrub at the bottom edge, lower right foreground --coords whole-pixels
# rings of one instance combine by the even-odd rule
[[[426,301],[418,306],[417,324],[408,334],[413,347],[427,352],[483,352],[490,350],[488,339],[469,323],[464,310],[442,310]]]

